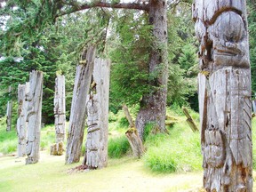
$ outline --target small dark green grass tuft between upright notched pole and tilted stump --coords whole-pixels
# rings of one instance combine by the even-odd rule
[[[108,140],[108,156],[110,158],[121,158],[130,149],[129,141],[125,136]]]

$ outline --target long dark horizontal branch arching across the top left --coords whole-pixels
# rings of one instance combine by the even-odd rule
[[[80,4],[72,9],[68,10],[68,12],[60,12],[60,14],[57,14],[56,17],[60,17],[66,14],[70,14],[72,12],[79,12],[82,10],[94,8],[94,7],[106,7],[106,8],[115,8],[115,9],[133,9],[133,10],[144,10],[148,11],[149,6],[148,4],[137,4],[137,3],[132,3],[132,4],[110,4],[110,3],[105,3],[105,2],[95,2],[92,4],[86,3],[86,4]]]

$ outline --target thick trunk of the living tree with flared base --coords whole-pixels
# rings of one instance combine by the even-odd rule
[[[167,58],[167,3],[166,0],[150,0],[149,23],[153,25],[153,44],[149,58],[149,74],[156,76],[149,82],[152,92],[145,95],[140,102],[140,111],[136,118],[136,128],[142,139],[144,126],[156,124],[156,130],[166,132],[165,113],[168,79]]]

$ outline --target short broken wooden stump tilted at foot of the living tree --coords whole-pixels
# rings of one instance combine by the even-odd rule
[[[142,141],[140,140],[140,135],[136,128],[132,127],[125,135],[132,147],[133,156],[139,157],[142,156],[145,152],[145,148],[143,147]]]

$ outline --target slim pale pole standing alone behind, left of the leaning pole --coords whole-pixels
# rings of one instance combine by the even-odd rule
[[[64,142],[66,124],[65,76],[57,76],[55,79],[54,117],[56,143]]]

